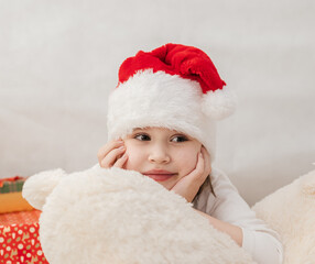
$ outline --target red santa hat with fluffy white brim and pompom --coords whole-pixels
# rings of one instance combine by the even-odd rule
[[[140,51],[120,66],[108,101],[108,139],[123,138],[134,128],[167,128],[197,139],[214,160],[216,121],[236,105],[225,85],[211,59],[196,47],[170,43]]]

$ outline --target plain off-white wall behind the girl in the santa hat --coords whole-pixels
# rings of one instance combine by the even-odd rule
[[[121,62],[183,43],[239,97],[216,165],[249,204],[315,162],[313,0],[0,0],[0,177],[85,169]]]

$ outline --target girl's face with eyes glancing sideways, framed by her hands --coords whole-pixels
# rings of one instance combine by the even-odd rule
[[[195,169],[202,143],[164,128],[134,129],[124,139],[126,169],[153,178],[166,189]]]

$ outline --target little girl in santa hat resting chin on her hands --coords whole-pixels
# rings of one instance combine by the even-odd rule
[[[211,168],[216,121],[235,109],[225,85],[210,58],[193,46],[166,44],[127,58],[109,97],[109,141],[98,161],[105,168],[140,172],[183,196],[254,261],[279,264],[278,234]]]

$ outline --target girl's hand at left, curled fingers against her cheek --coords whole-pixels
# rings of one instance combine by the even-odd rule
[[[123,168],[123,165],[128,160],[123,141],[116,140],[108,142],[99,148],[97,157],[99,165],[104,168]]]

